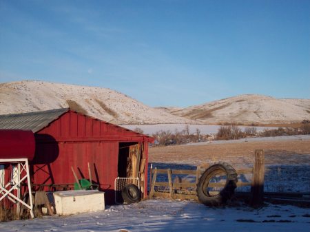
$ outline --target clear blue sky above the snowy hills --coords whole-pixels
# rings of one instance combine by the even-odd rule
[[[0,82],[20,80],[149,106],[310,98],[310,1],[0,0]]]

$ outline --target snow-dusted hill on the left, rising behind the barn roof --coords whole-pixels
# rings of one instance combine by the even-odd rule
[[[70,107],[116,124],[193,123],[160,109],[147,107],[112,89],[43,81],[0,84],[0,114]]]

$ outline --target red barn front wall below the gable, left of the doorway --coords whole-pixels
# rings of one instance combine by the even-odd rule
[[[118,143],[40,143],[36,156],[42,158],[33,165],[34,184],[74,183],[71,167],[79,179],[88,179],[87,162],[90,162],[93,182],[105,191],[107,204],[113,203],[114,179],[118,176]],[[43,158],[46,156],[56,159]]]

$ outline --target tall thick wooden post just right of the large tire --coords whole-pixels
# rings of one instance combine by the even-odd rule
[[[255,163],[253,169],[253,180],[251,184],[251,205],[259,207],[263,203],[265,178],[265,152],[264,150],[255,150]]]

